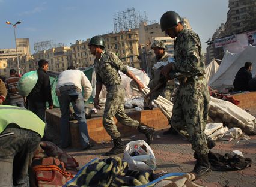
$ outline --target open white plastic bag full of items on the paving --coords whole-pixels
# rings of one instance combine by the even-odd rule
[[[129,164],[130,170],[156,170],[156,157],[144,140],[127,143],[123,161]]]

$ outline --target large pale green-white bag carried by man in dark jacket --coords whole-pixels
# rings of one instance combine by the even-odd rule
[[[18,82],[19,94],[22,96],[28,96],[37,83],[37,79],[37,70],[23,74]]]

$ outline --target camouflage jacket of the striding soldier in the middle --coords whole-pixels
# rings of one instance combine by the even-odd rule
[[[105,51],[102,51],[99,59],[94,59],[94,68],[96,84],[103,83],[106,88],[111,85],[120,85],[121,76],[118,70],[124,74],[128,71],[126,65],[114,53]]]

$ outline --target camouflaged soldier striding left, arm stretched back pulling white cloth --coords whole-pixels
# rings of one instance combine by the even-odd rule
[[[147,143],[150,144],[153,140],[154,129],[139,123],[136,120],[128,117],[124,113],[124,86],[121,85],[121,77],[118,70],[122,71],[128,77],[138,84],[138,88],[144,88],[144,85],[128,70],[126,65],[112,52],[105,52],[105,41],[100,36],[91,38],[88,43],[91,54],[96,56],[94,59],[94,68],[96,72],[96,95],[94,98],[94,107],[100,109],[99,95],[104,84],[108,93],[106,96],[105,110],[103,114],[103,126],[111,136],[114,147],[106,152],[105,155],[116,155],[123,153],[124,146],[121,144],[120,132],[114,122],[114,116],[118,122],[123,125],[138,129],[147,137]]]

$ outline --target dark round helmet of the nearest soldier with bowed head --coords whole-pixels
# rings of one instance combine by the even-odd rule
[[[174,28],[178,23],[182,22],[180,15],[175,11],[166,11],[160,19],[162,32],[167,29]]]

